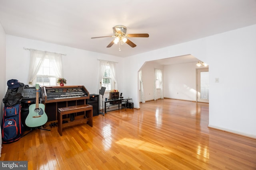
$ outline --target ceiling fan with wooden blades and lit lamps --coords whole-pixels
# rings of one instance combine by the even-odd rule
[[[137,34],[126,34],[127,28],[123,25],[116,25],[113,27],[113,33],[114,35],[110,36],[103,36],[103,37],[92,37],[94,38],[104,38],[104,37],[115,37],[113,41],[109,43],[107,48],[111,47],[113,44],[120,43],[121,45],[124,43],[127,43],[131,47],[136,47],[136,44],[134,44],[132,41],[130,41],[127,37],[149,37],[147,33],[137,33]]]

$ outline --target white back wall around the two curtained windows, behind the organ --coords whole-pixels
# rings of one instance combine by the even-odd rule
[[[120,57],[6,35],[6,79],[4,82],[17,79],[24,84],[28,84],[30,51],[24,50],[23,47],[66,54],[66,56],[62,56],[63,74],[67,80],[66,85],[83,85],[90,94],[99,94],[100,62],[97,59],[116,61],[118,62],[116,64],[117,70],[122,68]],[[117,77],[121,77],[119,72],[117,72]]]

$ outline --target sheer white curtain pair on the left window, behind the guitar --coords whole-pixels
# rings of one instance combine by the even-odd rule
[[[37,50],[31,49],[28,80],[29,82],[32,82],[32,84],[35,83],[34,80],[36,78],[38,70],[44,63],[44,59],[46,57],[49,57],[50,62],[54,64],[54,71],[56,73],[56,76],[63,77],[61,54],[50,53],[46,51],[37,51]]]

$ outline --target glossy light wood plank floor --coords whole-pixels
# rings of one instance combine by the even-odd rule
[[[209,129],[208,104],[163,99],[93,117],[93,127],[36,130],[3,144],[0,160],[30,170],[250,170],[256,139]]]

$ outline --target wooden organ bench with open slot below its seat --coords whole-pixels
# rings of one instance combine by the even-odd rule
[[[75,116],[74,121],[69,121],[68,123],[62,123],[62,115],[76,113],[84,111],[84,115]],[[88,125],[92,127],[92,106],[88,104],[77,105],[77,106],[69,106],[69,107],[60,107],[58,108],[58,133],[62,136],[62,128],[76,125],[78,123],[87,122]]]

